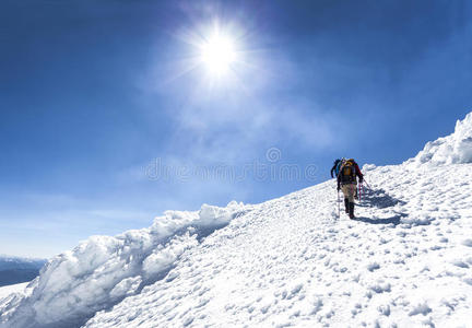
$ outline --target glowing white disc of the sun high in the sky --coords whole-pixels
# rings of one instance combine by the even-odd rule
[[[200,49],[200,59],[213,75],[226,73],[237,59],[233,39],[221,34],[206,39]]]

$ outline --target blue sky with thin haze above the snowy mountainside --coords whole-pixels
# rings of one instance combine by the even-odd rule
[[[398,164],[472,110],[465,0],[0,7],[0,254],[280,197],[339,156]],[[215,22],[240,59],[220,79],[190,69]],[[253,168],[282,165],[315,174]]]

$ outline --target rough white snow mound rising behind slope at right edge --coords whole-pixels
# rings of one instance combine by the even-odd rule
[[[472,163],[472,113],[456,122],[452,134],[429,141],[425,148],[405,164],[464,164]]]

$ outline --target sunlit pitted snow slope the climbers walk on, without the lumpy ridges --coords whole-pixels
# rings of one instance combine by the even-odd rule
[[[472,165],[367,172],[356,221],[332,181],[255,207],[86,327],[467,327]]]

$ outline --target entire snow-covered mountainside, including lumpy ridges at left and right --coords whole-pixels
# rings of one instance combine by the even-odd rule
[[[91,237],[0,300],[0,326],[467,327],[471,130],[468,115],[402,165],[365,165],[355,221],[331,180]]]

